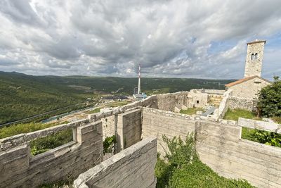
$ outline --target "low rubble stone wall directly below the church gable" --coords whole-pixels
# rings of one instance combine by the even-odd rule
[[[228,108],[230,109],[243,109],[247,111],[255,111],[256,103],[253,99],[246,99],[241,97],[229,96],[228,97]]]

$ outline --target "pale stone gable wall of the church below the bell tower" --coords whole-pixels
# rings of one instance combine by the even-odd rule
[[[257,94],[259,93],[261,88],[266,87],[268,84],[270,83],[266,82],[265,80],[262,80],[259,77],[255,77],[251,80],[247,80],[229,88],[233,89],[232,96],[254,99],[258,97]]]

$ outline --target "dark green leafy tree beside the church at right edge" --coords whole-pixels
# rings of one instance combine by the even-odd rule
[[[281,117],[281,80],[274,77],[273,84],[261,89],[258,102],[259,114],[266,117]]]

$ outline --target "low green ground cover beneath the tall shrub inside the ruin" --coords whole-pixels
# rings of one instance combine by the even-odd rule
[[[196,159],[184,168],[171,168],[158,158],[155,175],[156,187],[253,187],[245,180],[233,180],[221,177],[214,170]]]

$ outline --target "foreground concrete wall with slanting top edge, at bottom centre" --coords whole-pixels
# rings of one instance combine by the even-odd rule
[[[157,139],[144,139],[79,175],[74,187],[155,187]]]

